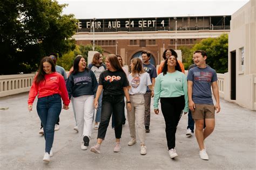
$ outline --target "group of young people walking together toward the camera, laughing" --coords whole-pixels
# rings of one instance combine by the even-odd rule
[[[100,153],[100,146],[105,139],[107,127],[112,116],[116,144],[113,152],[121,151],[120,139],[125,124],[125,105],[130,129],[129,146],[137,143],[136,130],[140,141],[140,154],[147,153],[145,133],[150,133],[150,105],[154,97],[154,113],[161,112],[165,120],[167,146],[171,158],[178,157],[176,152],[176,130],[183,112],[191,112],[196,123],[196,138],[199,156],[208,160],[205,139],[214,129],[214,110],[220,111],[217,74],[206,65],[207,55],[196,51],[191,68],[186,76],[183,64],[177,60],[173,49],[166,49],[165,59],[158,69],[150,63],[150,52],[143,51],[142,59],[134,58],[130,62],[131,73],[123,66],[122,56],[109,54],[103,64],[103,55],[96,53],[92,63],[86,67],[85,58],[76,56],[68,79],[56,73],[56,64],[52,58],[42,59],[33,81],[28,100],[28,109],[38,95],[37,113],[41,119],[45,138],[43,160],[50,161],[55,124],[59,117],[63,100],[63,109],[69,109],[72,99],[73,111],[81,149],[89,146],[93,117],[96,111],[94,129],[98,130],[97,142],[91,152]],[[216,105],[213,105],[211,86]],[[126,98],[126,101],[125,101]],[[205,128],[204,128],[205,126]],[[192,132],[192,131],[191,131]]]

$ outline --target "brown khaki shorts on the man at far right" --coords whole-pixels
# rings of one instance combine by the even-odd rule
[[[214,119],[215,107],[211,104],[195,104],[196,109],[192,113],[193,119]]]

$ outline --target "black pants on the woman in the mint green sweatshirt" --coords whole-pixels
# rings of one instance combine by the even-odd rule
[[[184,96],[180,97],[161,97],[161,110],[165,119],[165,133],[169,150],[175,147],[175,134],[179,119],[185,107]]]

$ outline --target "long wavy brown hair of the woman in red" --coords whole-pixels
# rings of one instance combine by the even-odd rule
[[[38,73],[35,77],[35,83],[39,84],[41,81],[45,81],[44,75],[46,74],[44,72],[44,62],[49,62],[51,64],[51,71],[52,72],[56,72],[55,69],[55,64],[53,62],[53,60],[49,57],[49,56],[45,56],[41,61],[40,61],[40,65],[39,65],[39,69],[38,69]]]

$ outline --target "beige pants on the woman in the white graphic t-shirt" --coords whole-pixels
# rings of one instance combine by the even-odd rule
[[[136,138],[135,122],[137,124],[140,145],[145,145],[145,100],[143,94],[130,95],[131,111],[127,109],[127,117],[131,138]],[[127,106],[126,106],[127,107]]]

